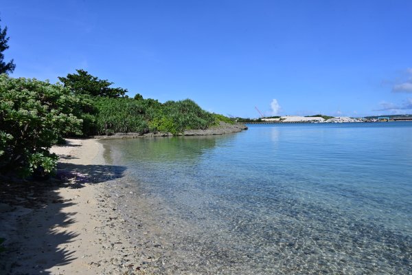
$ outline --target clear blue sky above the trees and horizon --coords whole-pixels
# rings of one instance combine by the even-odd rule
[[[2,0],[14,77],[242,117],[412,113],[412,1]]]

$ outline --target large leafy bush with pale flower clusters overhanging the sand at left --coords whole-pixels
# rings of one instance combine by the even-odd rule
[[[0,173],[50,173],[49,148],[62,135],[81,134],[83,102],[62,85],[0,75]]]

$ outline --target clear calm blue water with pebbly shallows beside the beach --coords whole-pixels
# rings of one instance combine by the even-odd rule
[[[128,168],[129,184],[115,192],[124,192],[133,241],[150,254],[144,265],[412,274],[411,122],[258,124],[106,146]]]

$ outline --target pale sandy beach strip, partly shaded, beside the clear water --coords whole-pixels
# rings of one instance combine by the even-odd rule
[[[69,139],[52,151],[60,156],[60,180],[10,182],[1,190],[7,251],[0,254],[0,273],[148,274],[134,263],[125,221],[104,188],[122,173],[104,164],[102,144]]]

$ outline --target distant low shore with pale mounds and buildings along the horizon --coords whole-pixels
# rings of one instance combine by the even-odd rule
[[[235,122],[249,124],[268,124],[268,123],[342,123],[342,122],[393,122],[393,121],[412,121],[411,114],[404,115],[374,115],[365,117],[333,117],[330,115],[284,115],[262,118],[233,118]]]

